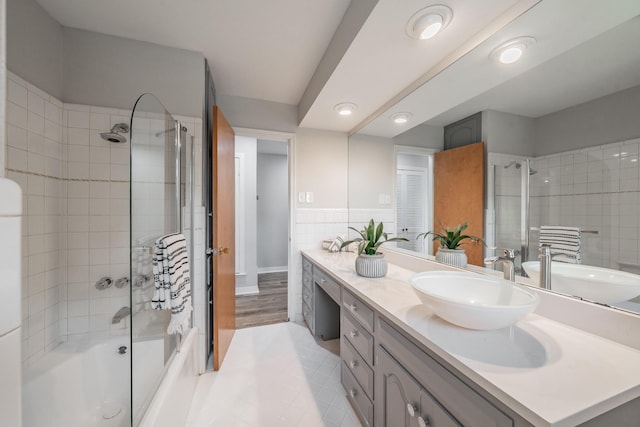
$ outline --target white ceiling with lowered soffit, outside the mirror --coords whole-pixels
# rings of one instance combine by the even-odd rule
[[[444,1],[451,24],[421,43],[406,23],[432,1],[37,0],[66,27],[202,52],[220,94],[297,106],[314,86],[300,126],[345,132],[511,8],[535,1]],[[332,42],[345,17],[343,27],[356,27]],[[324,75],[314,77],[317,69]],[[346,119],[334,110],[345,101],[358,105]]]

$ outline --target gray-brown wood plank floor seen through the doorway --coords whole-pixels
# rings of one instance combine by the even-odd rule
[[[236,329],[286,322],[287,272],[258,274],[258,295],[236,297]]]

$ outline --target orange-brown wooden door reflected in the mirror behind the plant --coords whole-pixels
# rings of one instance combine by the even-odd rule
[[[466,234],[484,236],[484,142],[436,153],[433,175],[433,229],[466,222]],[[469,264],[483,265],[482,244],[466,242]],[[434,253],[439,246],[434,242]]]

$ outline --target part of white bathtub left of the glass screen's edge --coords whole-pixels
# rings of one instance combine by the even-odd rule
[[[24,373],[23,427],[129,426],[129,356],[128,337],[66,343],[45,354]]]

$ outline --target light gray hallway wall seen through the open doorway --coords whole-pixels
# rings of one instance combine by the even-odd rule
[[[289,247],[287,156],[259,153],[257,178],[258,271],[274,267],[286,268]]]

